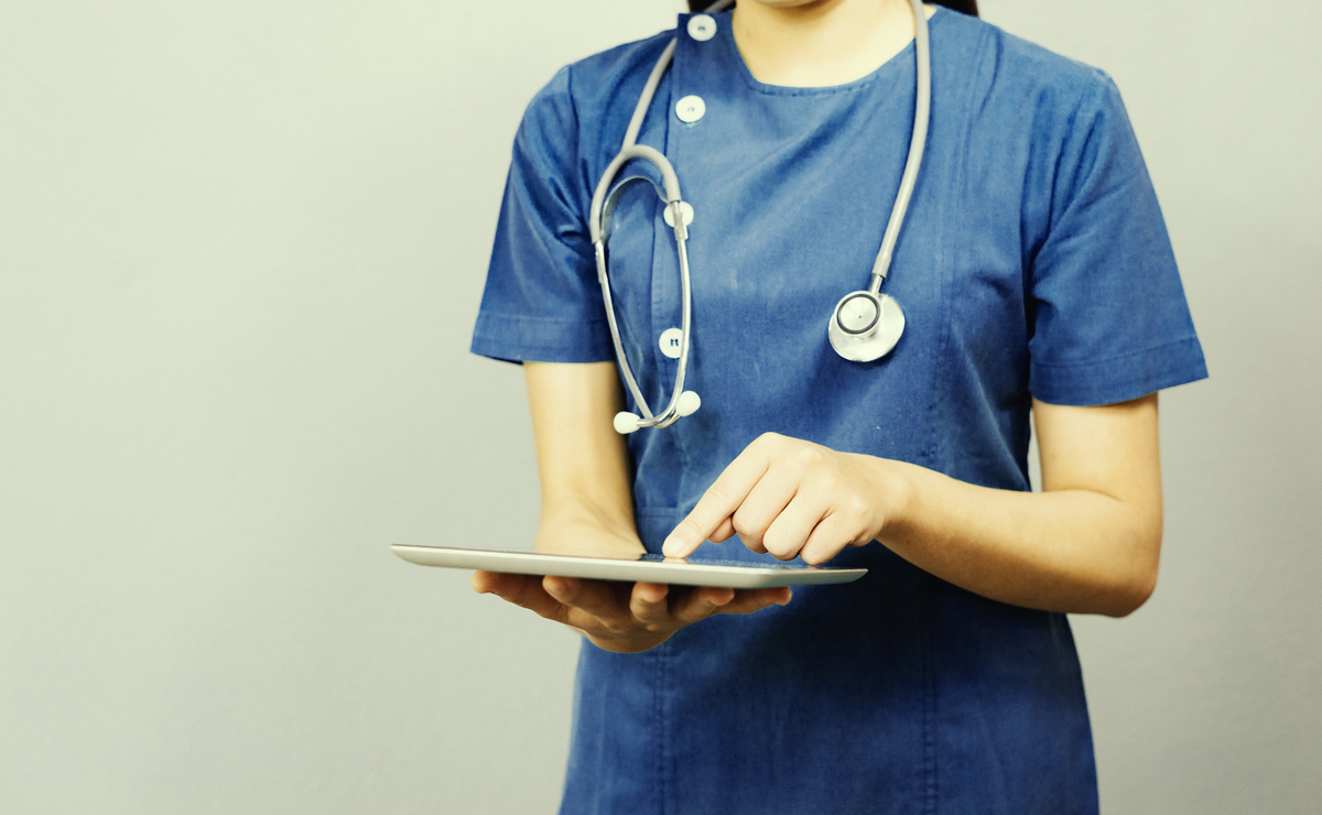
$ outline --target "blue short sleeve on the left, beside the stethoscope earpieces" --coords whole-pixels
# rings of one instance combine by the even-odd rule
[[[471,350],[512,362],[613,359],[587,231],[570,70],[524,114]]]

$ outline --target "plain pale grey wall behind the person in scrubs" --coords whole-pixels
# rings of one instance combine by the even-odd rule
[[[531,535],[510,139],[676,5],[0,0],[0,811],[554,808],[576,638],[385,547]],[[1212,370],[1075,621],[1103,806],[1317,811],[1322,7],[984,8],[1120,83]]]

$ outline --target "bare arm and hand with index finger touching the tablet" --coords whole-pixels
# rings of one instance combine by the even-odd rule
[[[1161,552],[1157,395],[1103,407],[1032,403],[1042,493],[768,433],[722,473],[665,553],[739,534],[754,551],[825,563],[879,540],[977,594],[1035,609],[1129,614]]]

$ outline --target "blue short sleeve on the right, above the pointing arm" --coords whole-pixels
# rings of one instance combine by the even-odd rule
[[[1157,194],[1101,74],[1054,162],[1029,269],[1029,388],[1051,404],[1137,399],[1207,376]]]

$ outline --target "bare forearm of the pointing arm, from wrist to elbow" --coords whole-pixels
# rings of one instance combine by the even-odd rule
[[[1055,612],[1124,616],[1157,580],[1159,499],[1093,490],[1019,493],[873,460],[878,489],[899,493],[880,543],[977,594]]]

